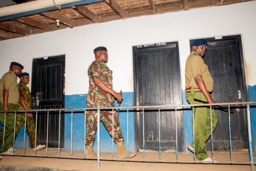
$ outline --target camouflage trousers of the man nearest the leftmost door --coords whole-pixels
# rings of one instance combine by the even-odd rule
[[[17,114],[16,115],[16,127],[15,127],[15,140],[18,136],[19,133],[19,129],[21,129],[21,127],[25,127],[25,114]],[[29,132],[28,130],[29,129]],[[36,126],[34,123],[34,119],[33,117],[31,117],[31,121],[30,121],[30,127],[29,127],[29,118],[27,118],[26,120],[26,132],[29,135],[29,139],[31,141],[31,144],[33,145],[33,148],[35,148],[35,138],[36,138]],[[40,141],[37,137],[37,146],[40,145]],[[13,147],[13,141],[11,142],[10,148]]]

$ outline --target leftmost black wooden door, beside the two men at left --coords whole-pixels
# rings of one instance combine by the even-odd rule
[[[60,109],[65,103],[65,56],[34,59],[32,71],[32,95],[36,99],[39,93],[37,109]],[[37,133],[41,144],[58,147],[59,140],[59,111],[38,112]],[[64,147],[64,115],[61,115],[60,147]]]

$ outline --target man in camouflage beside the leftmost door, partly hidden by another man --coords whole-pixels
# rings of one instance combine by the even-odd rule
[[[27,72],[23,72],[22,74],[19,75],[19,78],[21,79],[21,81],[18,84],[19,103],[17,105],[17,110],[30,110],[32,107],[32,98],[31,98],[29,87],[26,86],[26,84],[29,84],[29,74]],[[17,138],[19,129],[21,129],[22,125],[23,127],[25,127],[25,117],[26,117],[25,113],[17,113],[16,115],[15,139]],[[29,128],[30,117],[31,117],[31,121],[30,121],[30,128]],[[29,129],[29,131],[27,129]],[[31,144],[33,145],[33,148],[35,148],[36,127],[34,124],[33,115],[30,112],[27,112],[26,132],[29,135],[29,139],[31,141]],[[37,137],[37,150],[43,149],[45,147],[46,147],[45,145],[40,145],[40,141]],[[9,151],[13,152],[13,142],[10,145]]]

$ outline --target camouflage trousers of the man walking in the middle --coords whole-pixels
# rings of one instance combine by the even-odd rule
[[[108,130],[109,134],[114,137],[116,143],[124,141],[122,135],[119,118],[117,117],[116,110],[114,110],[113,116],[112,111],[100,111],[100,120],[103,122],[105,128]],[[95,141],[95,134],[97,131],[97,110],[96,111],[86,111],[86,136],[85,144],[93,145]],[[112,129],[112,125],[114,130]]]

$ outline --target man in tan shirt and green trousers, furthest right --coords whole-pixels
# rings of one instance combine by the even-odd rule
[[[202,100],[208,103],[215,103],[210,93],[213,90],[213,80],[208,70],[208,66],[203,62],[202,56],[206,51],[206,39],[196,39],[192,45],[192,52],[187,58],[185,76],[186,76],[186,96],[190,104],[202,104],[194,99]],[[212,131],[216,128],[218,117],[214,109],[211,109]],[[193,124],[193,121],[192,121]],[[202,162],[212,161],[208,157],[205,149],[206,141],[211,136],[210,108],[194,108],[194,133],[195,133],[195,154],[196,160]],[[191,152],[194,152],[193,141],[188,146]]]

